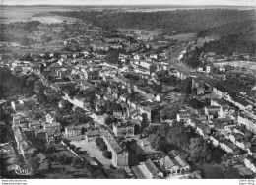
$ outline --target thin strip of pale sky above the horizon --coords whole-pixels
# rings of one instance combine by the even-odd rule
[[[232,5],[256,6],[256,0],[0,0],[0,5]]]

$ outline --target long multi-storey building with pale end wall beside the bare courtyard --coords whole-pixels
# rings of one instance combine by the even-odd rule
[[[112,154],[113,166],[128,166],[129,152],[117,143],[112,134],[105,130],[101,133],[101,138],[104,140],[107,150]]]

